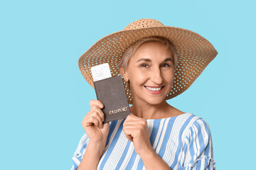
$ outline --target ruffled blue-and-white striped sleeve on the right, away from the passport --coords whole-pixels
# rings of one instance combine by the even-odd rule
[[[186,133],[186,154],[183,170],[215,170],[213,144],[208,123],[202,118],[196,120]]]

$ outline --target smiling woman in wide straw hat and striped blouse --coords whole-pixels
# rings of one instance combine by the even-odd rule
[[[92,45],[80,57],[83,76],[92,85],[93,65],[110,63],[113,76],[119,68],[132,115],[102,124],[103,104],[90,101],[73,169],[215,169],[206,121],[166,99],[188,89],[216,55],[200,35],[152,19]]]

